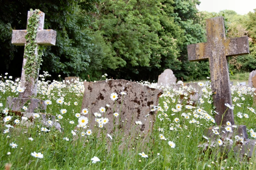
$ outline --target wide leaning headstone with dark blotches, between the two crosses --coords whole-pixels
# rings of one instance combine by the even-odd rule
[[[81,110],[84,108],[89,109],[89,114],[86,116],[89,119],[88,125],[91,129],[93,129],[94,125],[97,125],[93,113],[99,113],[100,107],[106,107],[106,104],[109,104],[110,107],[107,108],[106,113],[102,114],[102,117],[109,119],[109,123],[104,126],[107,129],[107,133],[112,134],[114,127],[122,132],[123,135],[133,135],[136,130],[138,132],[144,131],[145,133],[150,131],[151,133],[155,115],[154,112],[150,111],[150,105],[158,105],[158,99],[163,90],[127,80],[84,82],[84,86],[85,91]],[[127,93],[123,98],[120,95],[121,91]],[[110,99],[110,94],[113,92],[118,94],[118,100],[116,101]],[[123,105],[121,106],[122,99]],[[114,107],[115,112],[120,114],[119,117],[113,116]],[[136,128],[133,128],[136,125],[135,121],[138,120],[142,122],[142,125],[137,125]]]

